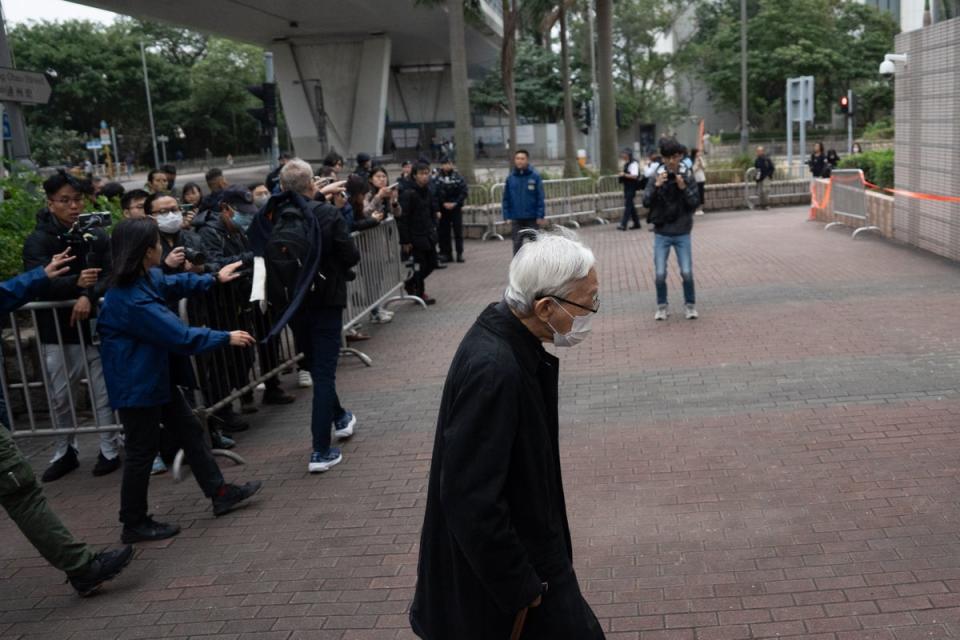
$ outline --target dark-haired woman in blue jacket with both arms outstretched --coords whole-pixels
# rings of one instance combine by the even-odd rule
[[[193,477],[221,516],[260,489],[260,482],[226,484],[203,429],[170,376],[170,358],[226,345],[249,347],[245,331],[189,327],[167,306],[171,299],[207,291],[235,280],[241,263],[216,274],[164,275],[160,232],[150,218],[124,220],[111,238],[115,269],[104,296],[97,331],[110,404],[120,414],[127,459],[120,489],[122,540],[162,540],[180,533],[175,524],[156,522],[147,513],[150,469],[160,448],[160,423],[183,449]]]

